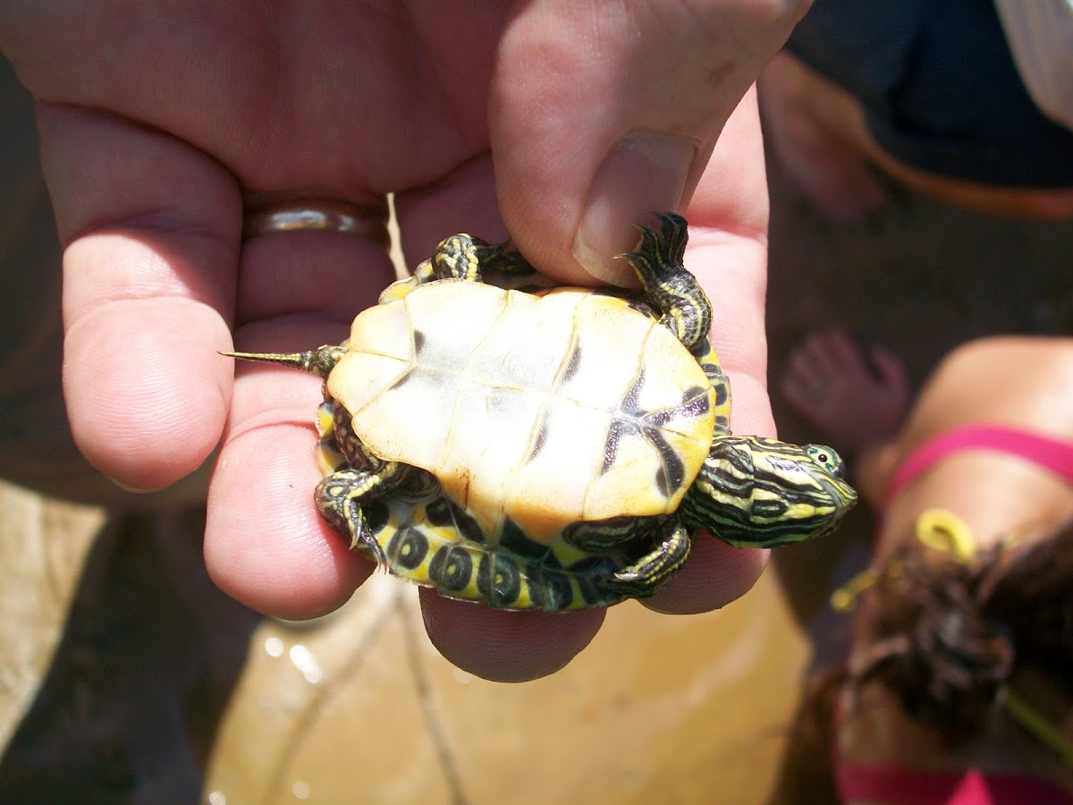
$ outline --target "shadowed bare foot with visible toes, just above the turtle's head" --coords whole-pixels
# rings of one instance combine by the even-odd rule
[[[868,355],[841,327],[810,333],[790,355],[780,387],[835,448],[857,450],[892,436],[909,408],[909,379],[890,350]]]

